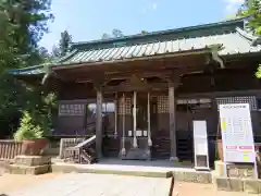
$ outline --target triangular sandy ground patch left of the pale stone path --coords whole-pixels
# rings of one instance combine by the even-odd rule
[[[33,186],[37,183],[53,179],[58,175],[59,174],[55,173],[47,173],[44,175],[0,175],[0,196],[7,192],[16,191],[25,186]]]

